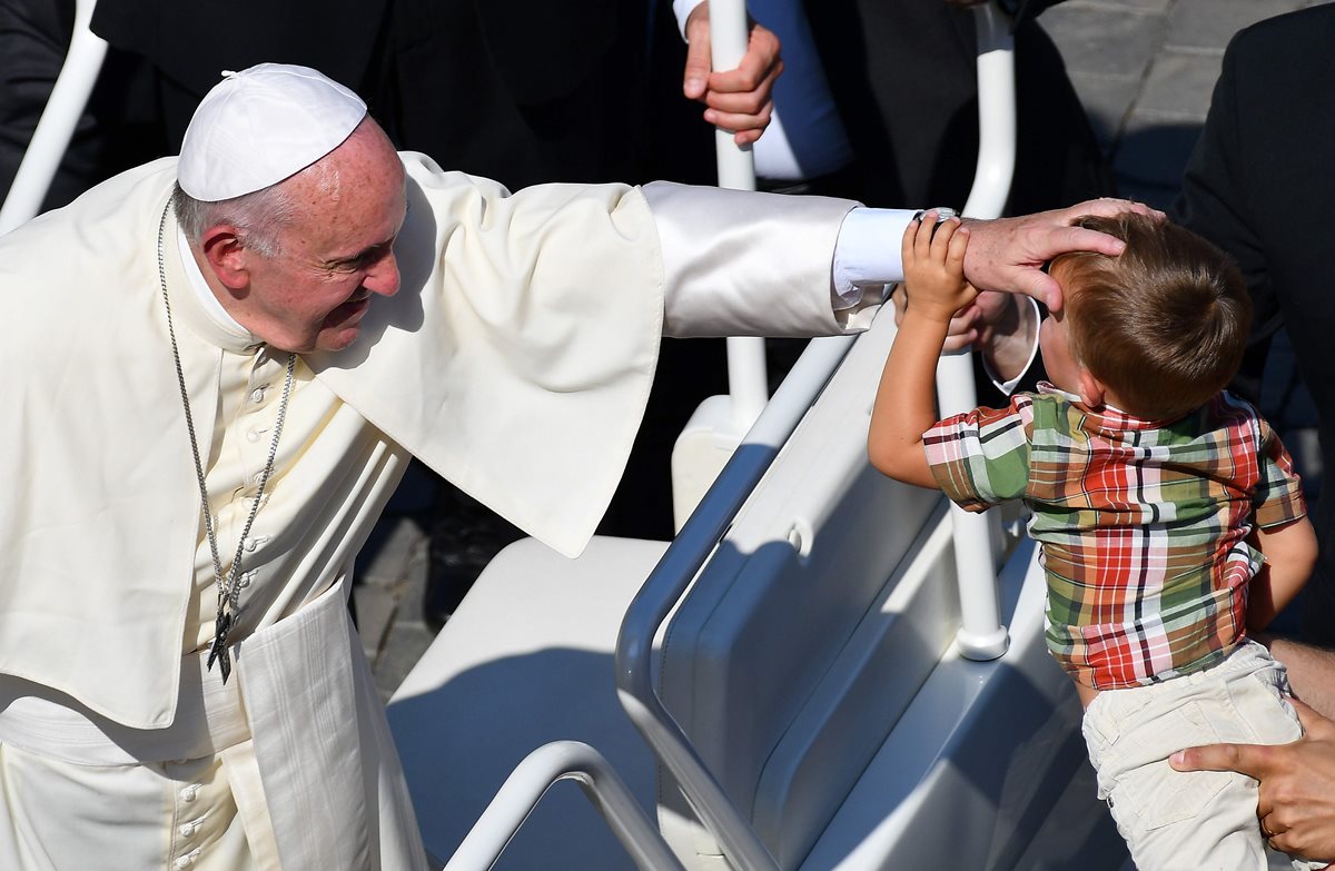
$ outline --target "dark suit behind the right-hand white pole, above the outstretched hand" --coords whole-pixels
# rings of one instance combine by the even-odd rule
[[[1056,45],[1016,20],[1017,159],[1011,214],[1068,206],[1113,184]],[[959,208],[979,147],[975,15],[944,0],[806,0],[806,16],[873,206]]]

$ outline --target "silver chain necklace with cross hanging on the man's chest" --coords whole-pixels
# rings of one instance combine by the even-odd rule
[[[167,208],[171,208],[168,206]],[[260,501],[264,498],[264,486],[274,472],[274,460],[278,457],[278,440],[283,434],[283,419],[287,417],[287,399],[292,393],[292,373],[296,369],[296,354],[287,355],[287,378],[283,381],[283,398],[278,403],[278,422],[274,423],[274,438],[268,445],[268,460],[260,473],[259,488],[255,492],[255,504],[251,505],[246,526],[236,540],[236,556],[232,557],[232,568],[223,578],[223,562],[218,557],[218,533],[214,530],[214,513],[208,508],[208,486],[204,484],[204,464],[199,456],[199,441],[195,438],[195,421],[190,414],[190,393],[186,390],[186,370],[180,365],[180,349],[176,345],[176,329],[172,326],[171,298],[167,295],[167,267],[163,256],[163,232],[167,227],[167,208],[158,222],[158,281],[163,290],[163,305],[167,307],[167,335],[171,337],[171,354],[176,362],[176,383],[180,386],[180,403],[186,409],[186,429],[190,431],[190,450],[195,454],[195,476],[199,480],[199,504],[204,513],[204,532],[208,536],[208,549],[214,554],[214,582],[218,585],[218,617],[214,620],[214,643],[208,648],[207,668],[212,671],[214,660],[223,673],[223,683],[232,673],[232,659],[227,652],[227,633],[231,632],[234,615],[239,613],[242,586],[238,582],[242,574],[242,552],[246,548],[246,538],[250,536],[251,524],[259,513]]]

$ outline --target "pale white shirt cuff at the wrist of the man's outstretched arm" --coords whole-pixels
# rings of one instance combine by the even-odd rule
[[[834,310],[862,301],[868,290],[885,295],[886,285],[904,281],[900,244],[916,212],[906,208],[858,207],[848,212],[834,242]]]

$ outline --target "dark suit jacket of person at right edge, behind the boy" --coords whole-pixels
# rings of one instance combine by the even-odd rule
[[[1270,337],[1287,326],[1320,411],[1322,460],[1335,469],[1335,5],[1262,21],[1224,53],[1210,116],[1173,218],[1234,256],[1252,295],[1254,346],[1242,391],[1256,397]],[[1322,545],[1304,635],[1335,641],[1335,512],[1314,516]]]

